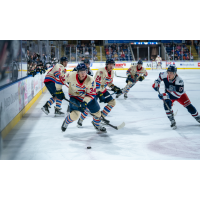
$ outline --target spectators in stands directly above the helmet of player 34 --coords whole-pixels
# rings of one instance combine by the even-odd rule
[[[84,58],[89,60],[98,61],[97,50],[94,43],[71,45],[71,59],[70,59],[70,45],[65,47],[65,54],[72,62],[81,61]],[[76,54],[77,50],[77,54]],[[77,59],[76,59],[77,56]]]

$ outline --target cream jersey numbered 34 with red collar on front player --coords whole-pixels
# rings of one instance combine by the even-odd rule
[[[96,95],[96,84],[92,76],[86,75],[81,83],[78,79],[77,72],[67,72],[62,77],[64,84],[69,83],[69,96],[89,103]],[[56,89],[62,89],[62,85],[56,84]]]

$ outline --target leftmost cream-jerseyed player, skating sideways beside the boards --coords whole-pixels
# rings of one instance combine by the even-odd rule
[[[45,103],[45,105],[41,108],[42,111],[48,115],[49,108],[50,106],[56,102],[55,106],[55,115],[56,116],[64,116],[64,113],[61,112],[61,104],[62,104],[62,99],[59,99],[56,97],[55,92],[56,92],[56,87],[55,84],[59,84],[62,87],[62,82],[60,80],[60,76],[63,76],[66,73],[66,66],[68,63],[67,57],[62,57],[60,59],[60,64],[56,64],[45,76],[44,83],[49,90],[50,94],[52,97]]]

